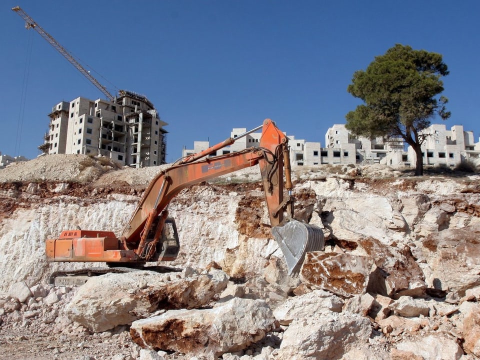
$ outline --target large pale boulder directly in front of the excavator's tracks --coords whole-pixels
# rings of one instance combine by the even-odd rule
[[[65,311],[90,330],[105,331],[150,316],[157,309],[205,306],[227,283],[221,270],[192,272],[188,277],[153,271],[108,273],[82,285]]]

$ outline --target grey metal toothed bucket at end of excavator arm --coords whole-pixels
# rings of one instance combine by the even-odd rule
[[[271,234],[280,246],[290,275],[298,271],[306,252],[323,250],[323,231],[316,225],[291,220],[283,226],[273,226]]]

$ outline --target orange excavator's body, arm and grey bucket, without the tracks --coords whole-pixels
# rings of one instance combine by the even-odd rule
[[[260,128],[258,147],[211,156]],[[270,119],[160,171],[144,191],[120,237],[111,231],[64,230],[58,238],[46,240],[47,261],[106,262],[109,266],[128,267],[174,260],[180,243],[175,221],[168,216],[170,201],[187,186],[256,164],[260,167],[272,235],[289,273],[296,272],[307,251],[323,247],[323,232],[318,226],[293,218],[288,138]]]

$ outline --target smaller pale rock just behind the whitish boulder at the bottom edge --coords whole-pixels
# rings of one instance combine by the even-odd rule
[[[292,320],[305,318],[312,313],[341,312],[343,301],[330,292],[313,290],[304,295],[289,297],[273,310],[273,315],[281,325]]]

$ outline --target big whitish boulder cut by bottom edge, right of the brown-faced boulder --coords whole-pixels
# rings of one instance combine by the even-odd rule
[[[370,322],[358,314],[312,313],[310,317],[293,320],[285,330],[278,359],[339,359],[366,344],[370,334]]]

